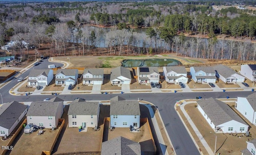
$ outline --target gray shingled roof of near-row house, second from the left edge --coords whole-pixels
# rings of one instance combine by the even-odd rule
[[[58,105],[63,102],[32,102],[26,116],[56,116]]]

